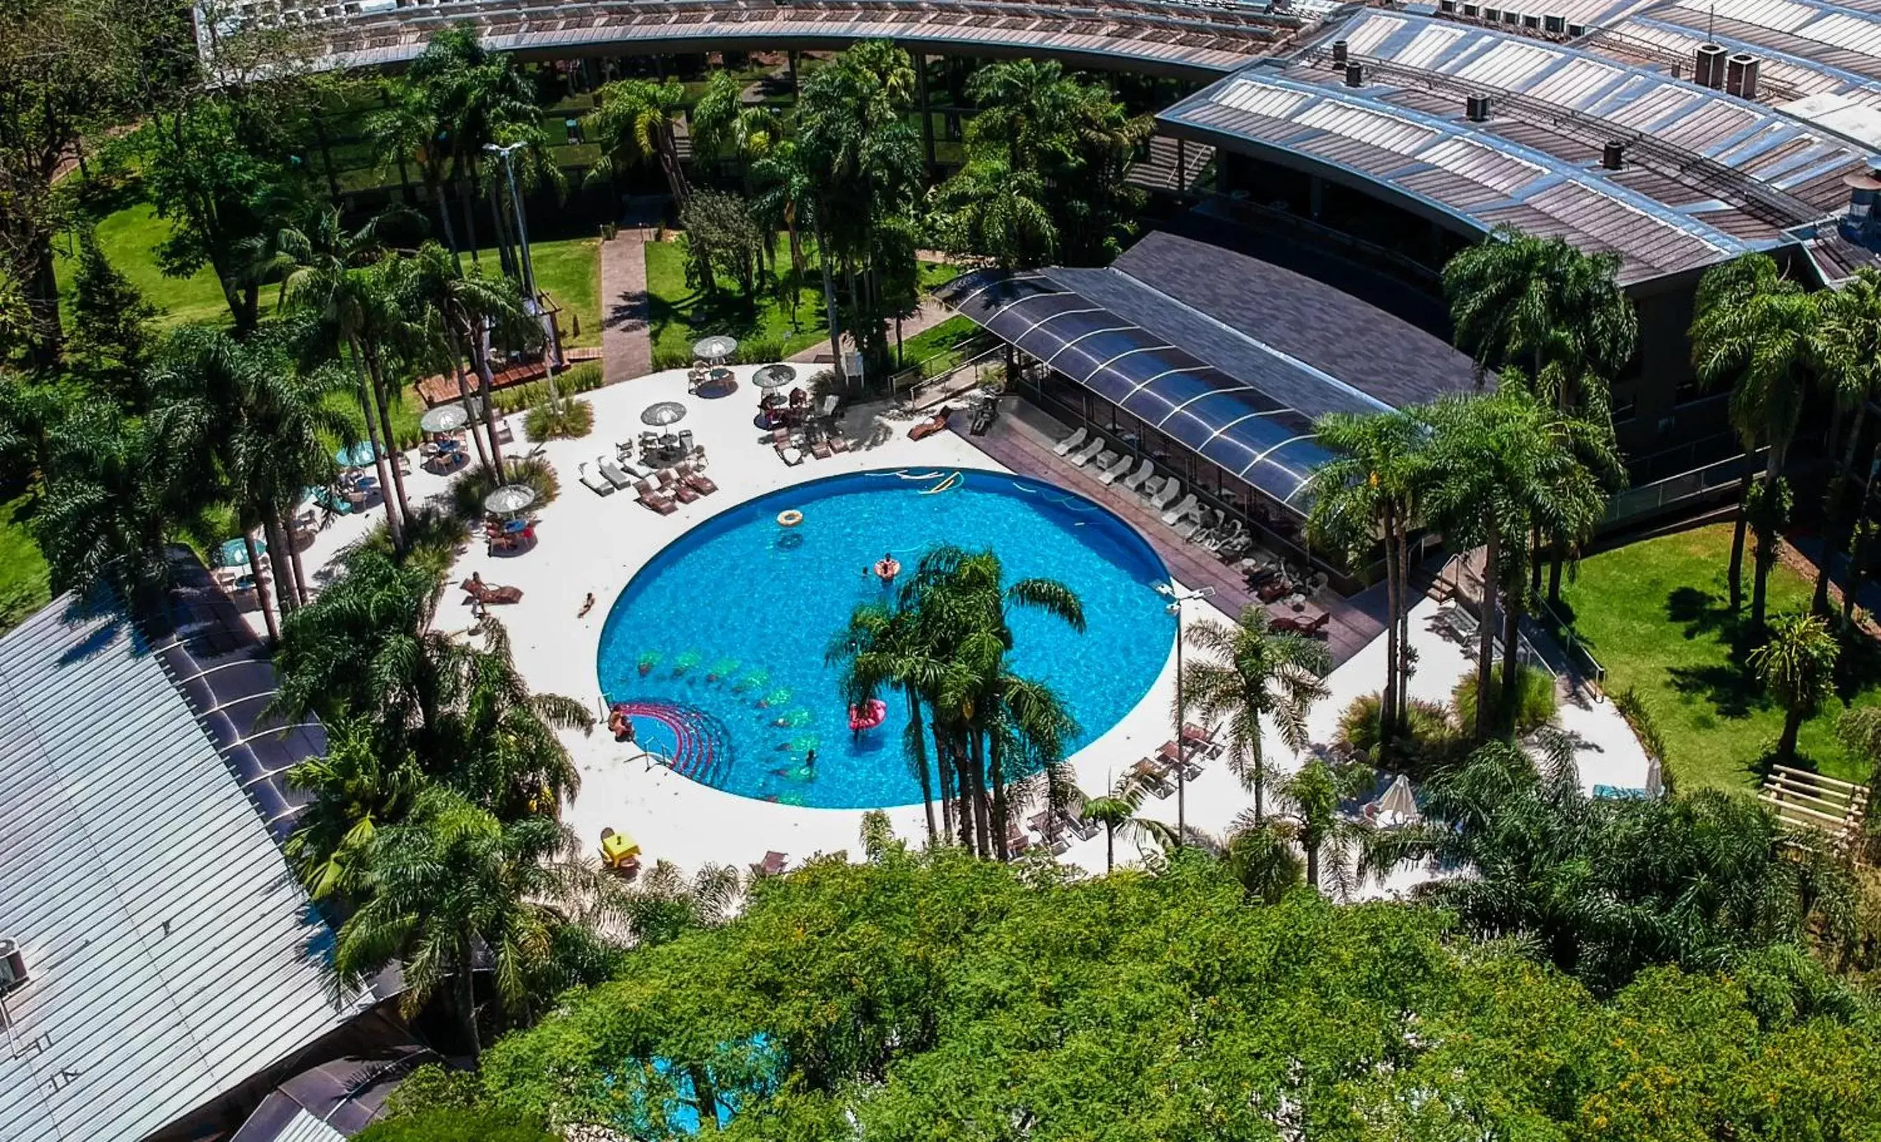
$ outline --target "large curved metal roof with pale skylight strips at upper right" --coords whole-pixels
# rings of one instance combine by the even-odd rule
[[[1326,41],[1347,41],[1345,87]],[[1465,98],[1490,96],[1482,122]],[[1159,115],[1187,134],[1384,190],[1465,230],[1512,224],[1621,256],[1621,280],[1813,237],[1873,154],[1764,105],[1574,47],[1364,11],[1292,60]],[[1603,169],[1604,143],[1627,145]],[[1832,275],[1834,277],[1834,275]]]

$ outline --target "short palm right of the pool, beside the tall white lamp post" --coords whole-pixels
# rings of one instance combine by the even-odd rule
[[[1305,715],[1328,692],[1332,655],[1319,642],[1275,632],[1257,606],[1232,627],[1200,619],[1185,634],[1202,655],[1183,664],[1183,690],[1202,721],[1226,719],[1228,768],[1255,794],[1253,822],[1260,824],[1268,781],[1260,719],[1272,717],[1281,743],[1304,751]]]

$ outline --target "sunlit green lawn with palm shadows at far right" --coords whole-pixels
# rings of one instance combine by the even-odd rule
[[[1638,692],[1683,788],[1753,785],[1783,728],[1783,711],[1744,668],[1749,643],[1727,606],[1729,559],[1731,525],[1700,527],[1595,555],[1561,589],[1580,640],[1606,668],[1606,690]],[[1804,610],[1810,587],[1778,564],[1770,611]],[[1864,640],[1843,658],[1841,694],[1804,722],[1798,753],[1823,773],[1864,781],[1866,762],[1847,756],[1834,724],[1849,704],[1881,706],[1881,649]]]

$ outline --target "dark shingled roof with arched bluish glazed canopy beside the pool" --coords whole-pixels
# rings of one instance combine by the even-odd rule
[[[1225,297],[1225,286],[1238,297]],[[1471,384],[1467,357],[1428,333],[1300,275],[1174,235],[1146,237],[1110,269],[980,271],[942,295],[1294,510],[1305,508],[1300,489],[1311,470],[1330,459],[1313,420],[1392,406],[1322,361],[1396,361],[1398,384],[1416,386],[1403,391],[1418,399]],[[1366,380],[1383,382],[1383,371]]]

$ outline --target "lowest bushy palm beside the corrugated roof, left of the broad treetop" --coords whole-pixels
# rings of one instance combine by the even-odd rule
[[[600,894],[574,833],[547,817],[502,822],[446,786],[419,794],[406,822],[367,850],[367,897],[340,926],[333,971],[357,986],[401,965],[406,1018],[450,990],[470,1054],[480,1052],[472,973],[489,956],[504,1012],[527,1012],[555,929]]]

